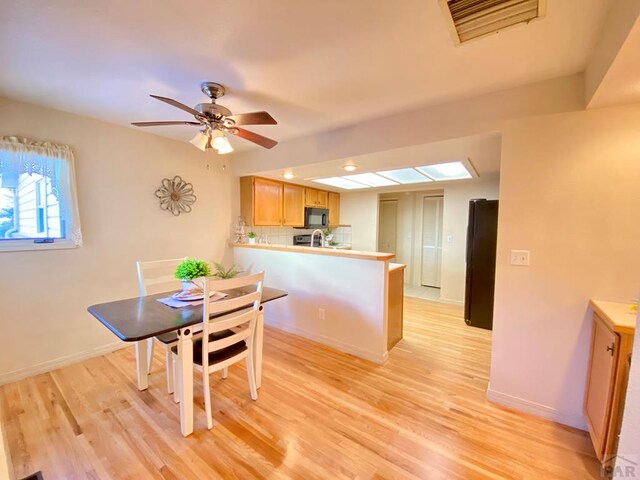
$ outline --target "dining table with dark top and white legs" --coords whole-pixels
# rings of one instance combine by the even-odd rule
[[[251,287],[224,290],[225,299],[249,293]],[[255,291],[255,290],[253,290]],[[149,339],[177,334],[178,398],[180,403],[180,431],[185,437],[193,432],[193,335],[202,329],[202,303],[172,308],[159,299],[171,296],[175,291],[99,303],[87,308],[88,312],[124,342],[133,342],[136,353],[136,374],[139,390],[149,386]],[[263,287],[260,311],[256,321],[254,370],[256,387],[262,383],[262,346],[264,339],[264,304],[287,296],[284,290]],[[212,315],[211,319],[230,312]]]

